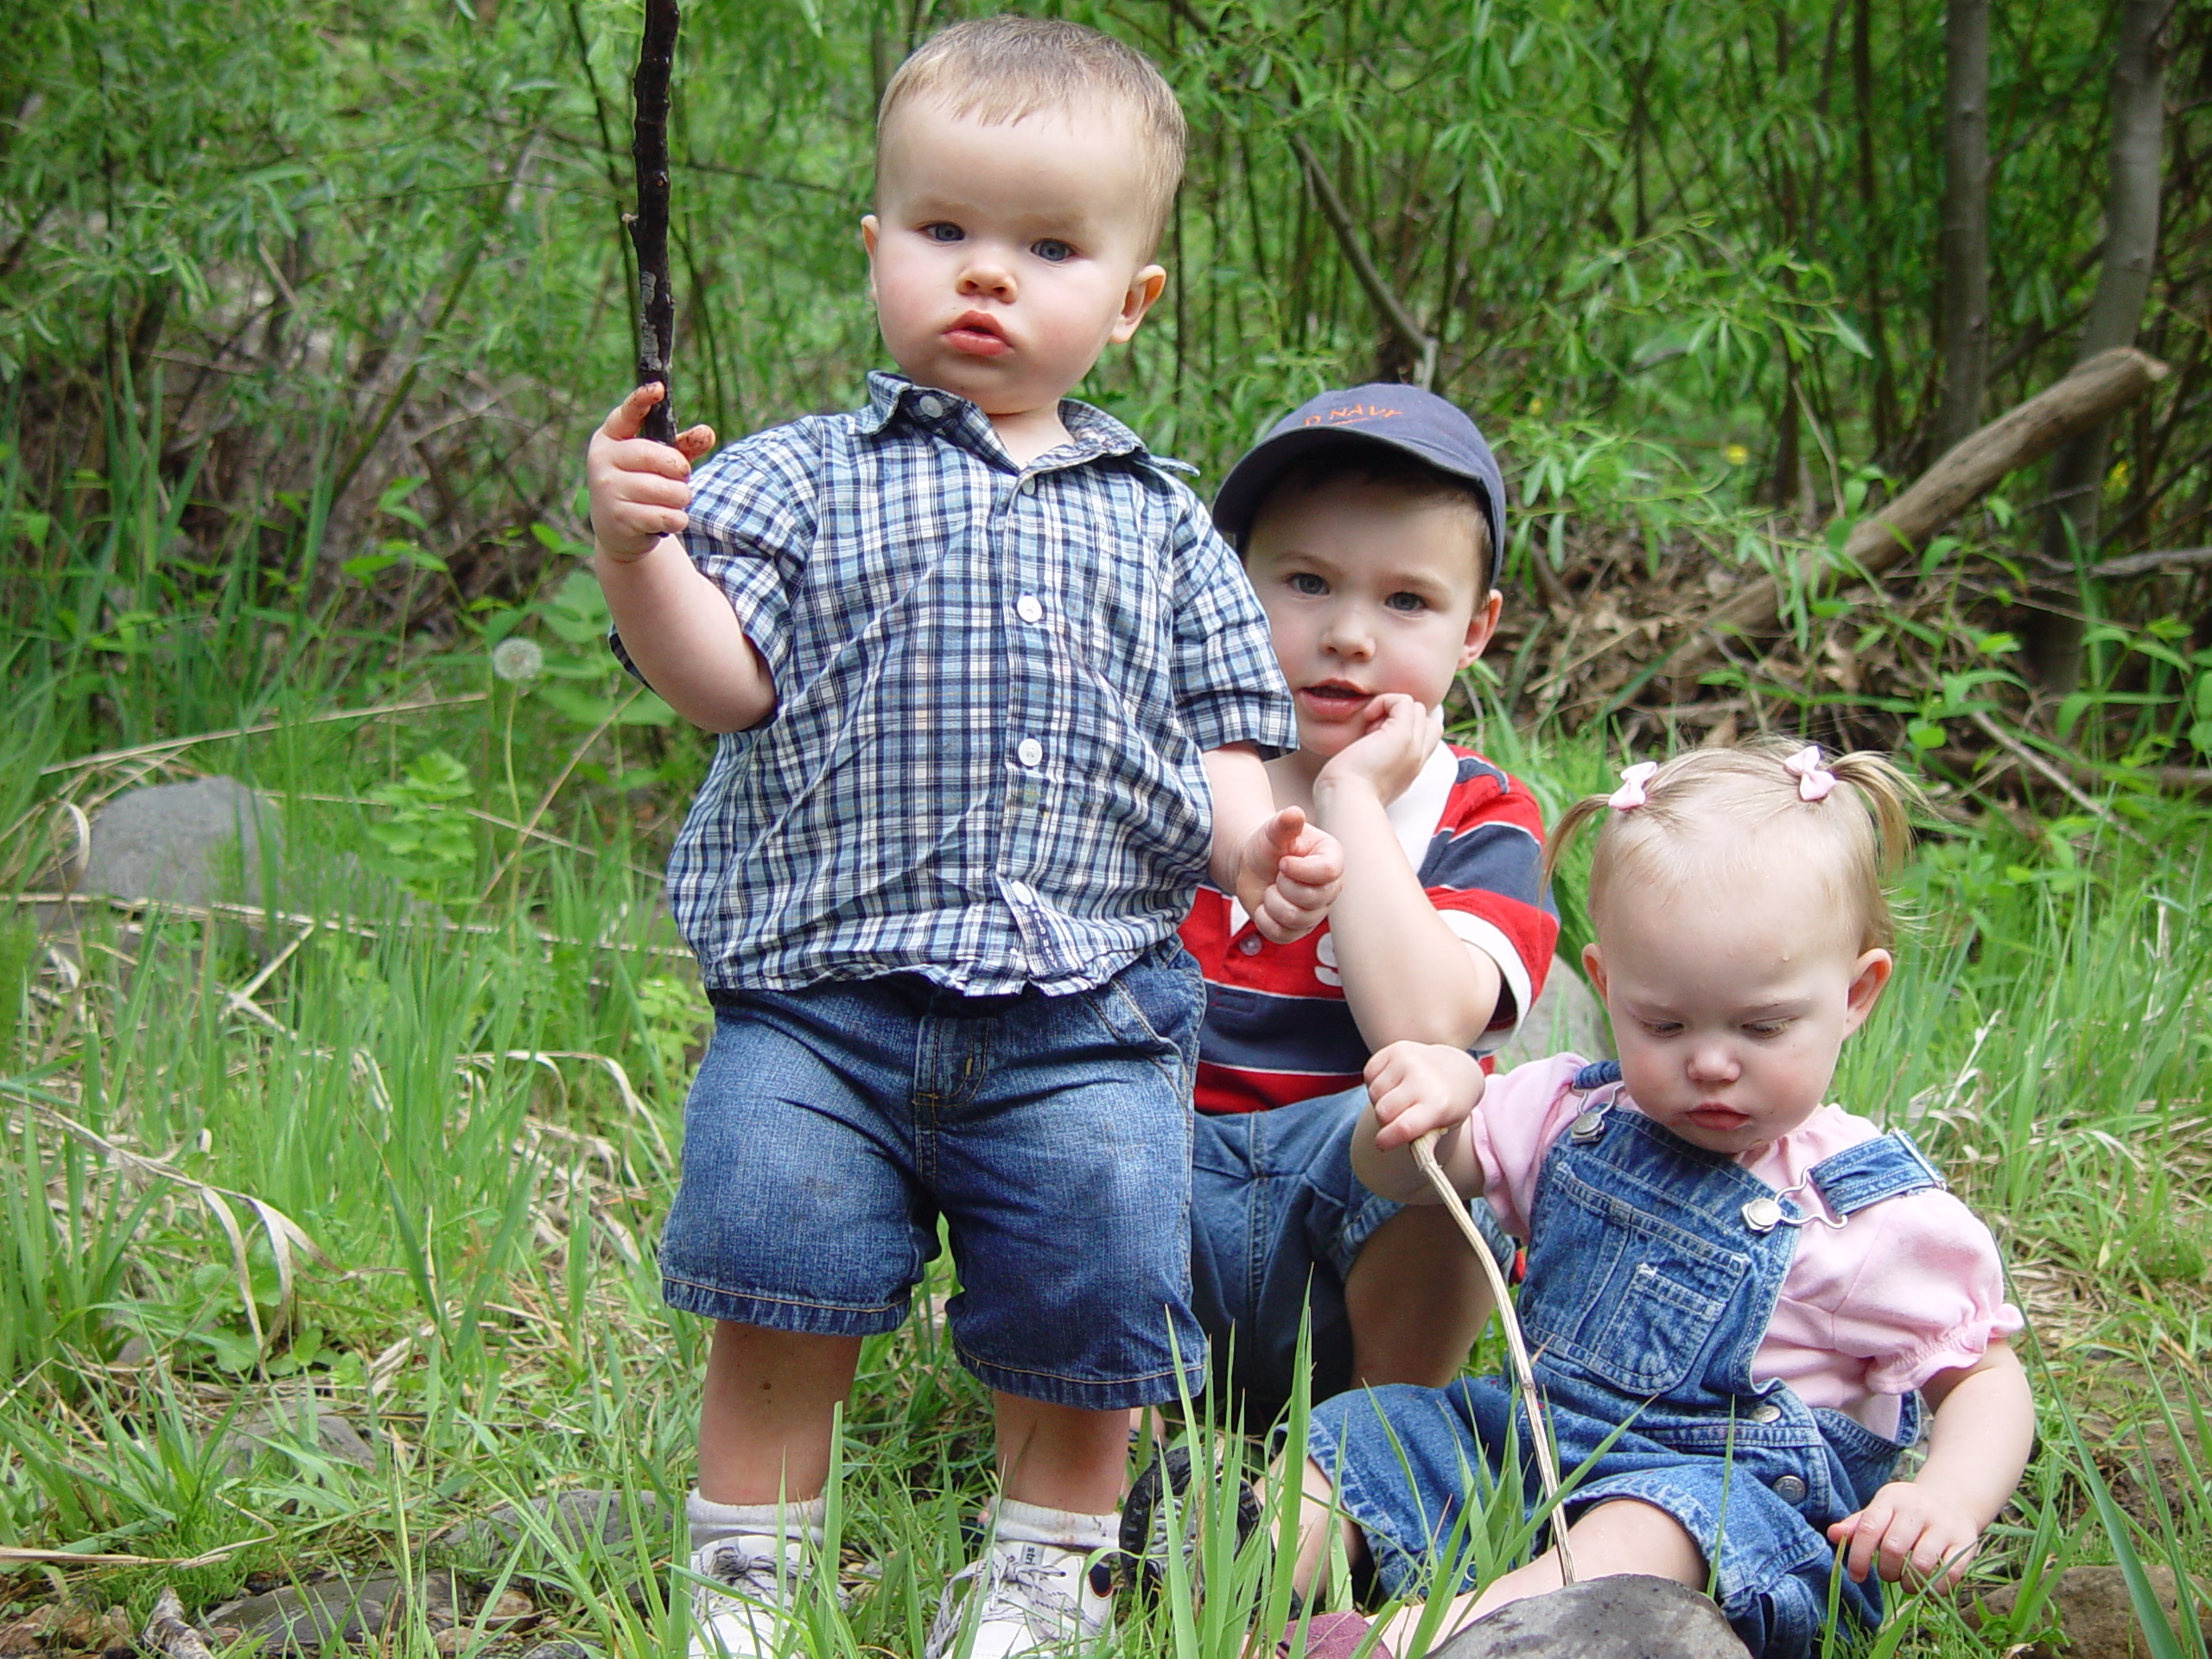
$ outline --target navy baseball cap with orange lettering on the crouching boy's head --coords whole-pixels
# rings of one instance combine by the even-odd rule
[[[1230,467],[1214,493],[1214,526],[1230,542],[1243,544],[1259,504],[1283,473],[1307,456],[1340,445],[1398,449],[1447,478],[1473,484],[1491,526],[1491,586],[1498,586],[1506,560],[1506,480],[1498,471],[1498,458],[1473,420],[1413,385],[1356,385],[1301,403]]]

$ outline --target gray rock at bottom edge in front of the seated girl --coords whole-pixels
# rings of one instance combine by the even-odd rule
[[[1511,1601],[1433,1659],[1750,1659],[1712,1597],[1672,1579],[1606,1577]]]

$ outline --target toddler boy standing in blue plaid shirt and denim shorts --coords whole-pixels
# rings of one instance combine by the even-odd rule
[[[591,442],[628,661],[721,732],[668,894],[717,1006],[661,1241],[714,1321],[690,1500],[695,1652],[790,1644],[832,1411],[945,1217],[1002,1502],[931,1655],[1093,1635],[1128,1409],[1203,1380],[1188,1093],[1201,876],[1267,938],[1336,845],[1276,812],[1296,741],[1265,619],[1203,507],[1062,400],[1159,296],[1183,117],[1088,29],[947,29],[891,80],[860,221],[902,374],[706,462]],[[679,453],[681,451],[681,453]],[[1172,1345],[1170,1347],[1170,1338]],[[967,1593],[962,1593],[962,1584]]]

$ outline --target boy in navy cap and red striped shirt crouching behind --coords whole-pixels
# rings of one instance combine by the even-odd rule
[[[1285,416],[1221,482],[1214,524],[1296,701],[1276,801],[1336,836],[1345,883],[1290,945],[1212,885],[1183,922],[1206,973],[1197,1314],[1254,1413],[1290,1398],[1307,1312],[1312,1398],[1440,1387],[1489,1316],[1480,1265],[1442,1208],[1367,1192],[1349,1148],[1369,1093],[1425,1064],[1418,1044],[1486,1055],[1511,1035],[1559,931],[1535,799],[1442,734],[1498,626],[1504,480],[1460,409],[1363,385]]]

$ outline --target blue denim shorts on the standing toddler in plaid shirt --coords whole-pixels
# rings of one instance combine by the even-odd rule
[[[900,973],[717,991],[661,1232],[670,1307],[816,1336],[907,1316],[951,1239],[947,1325],[991,1389],[1093,1411],[1206,1380],[1190,1314],[1181,945],[1095,991],[967,998]]]

